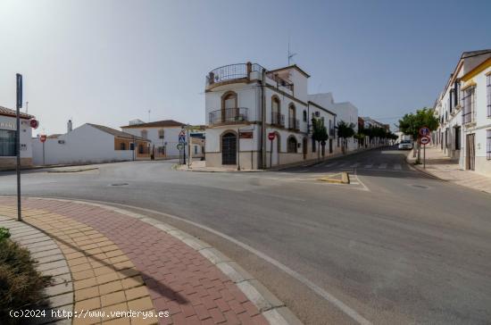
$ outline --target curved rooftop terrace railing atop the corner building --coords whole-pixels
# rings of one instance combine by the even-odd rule
[[[258,79],[262,70],[264,68],[257,63],[224,65],[208,72],[206,76],[206,88],[210,89],[232,82],[247,82],[251,79]]]

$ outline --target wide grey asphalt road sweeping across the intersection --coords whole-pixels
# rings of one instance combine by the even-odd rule
[[[308,324],[356,323],[339,302],[374,324],[490,324],[491,196],[414,171],[405,154],[250,173],[173,171],[172,162],[29,171],[23,193],[130,204],[220,231],[329,296],[223,237],[153,214],[229,254]],[[317,180],[338,171],[353,183]],[[15,194],[12,172],[0,173],[0,194]]]

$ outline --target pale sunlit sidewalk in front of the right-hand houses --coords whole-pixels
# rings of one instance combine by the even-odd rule
[[[422,154],[421,149],[421,159]],[[412,157],[412,151],[407,155],[407,161],[416,162],[416,158]],[[419,171],[429,173],[438,179],[444,179],[491,194],[491,178],[475,171],[463,171],[458,161],[446,157],[438,148],[426,148],[426,169],[423,169],[422,164],[413,166]]]

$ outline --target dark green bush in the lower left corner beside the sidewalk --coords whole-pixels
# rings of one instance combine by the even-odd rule
[[[10,319],[12,309],[29,308],[43,300],[42,289],[51,277],[42,276],[34,265],[26,248],[10,239],[0,241],[0,320]]]

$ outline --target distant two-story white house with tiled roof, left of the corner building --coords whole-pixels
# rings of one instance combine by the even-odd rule
[[[154,159],[179,157],[179,132],[186,124],[174,120],[144,122],[129,121],[129,125],[121,129],[129,134],[144,137],[152,141],[150,148]]]

